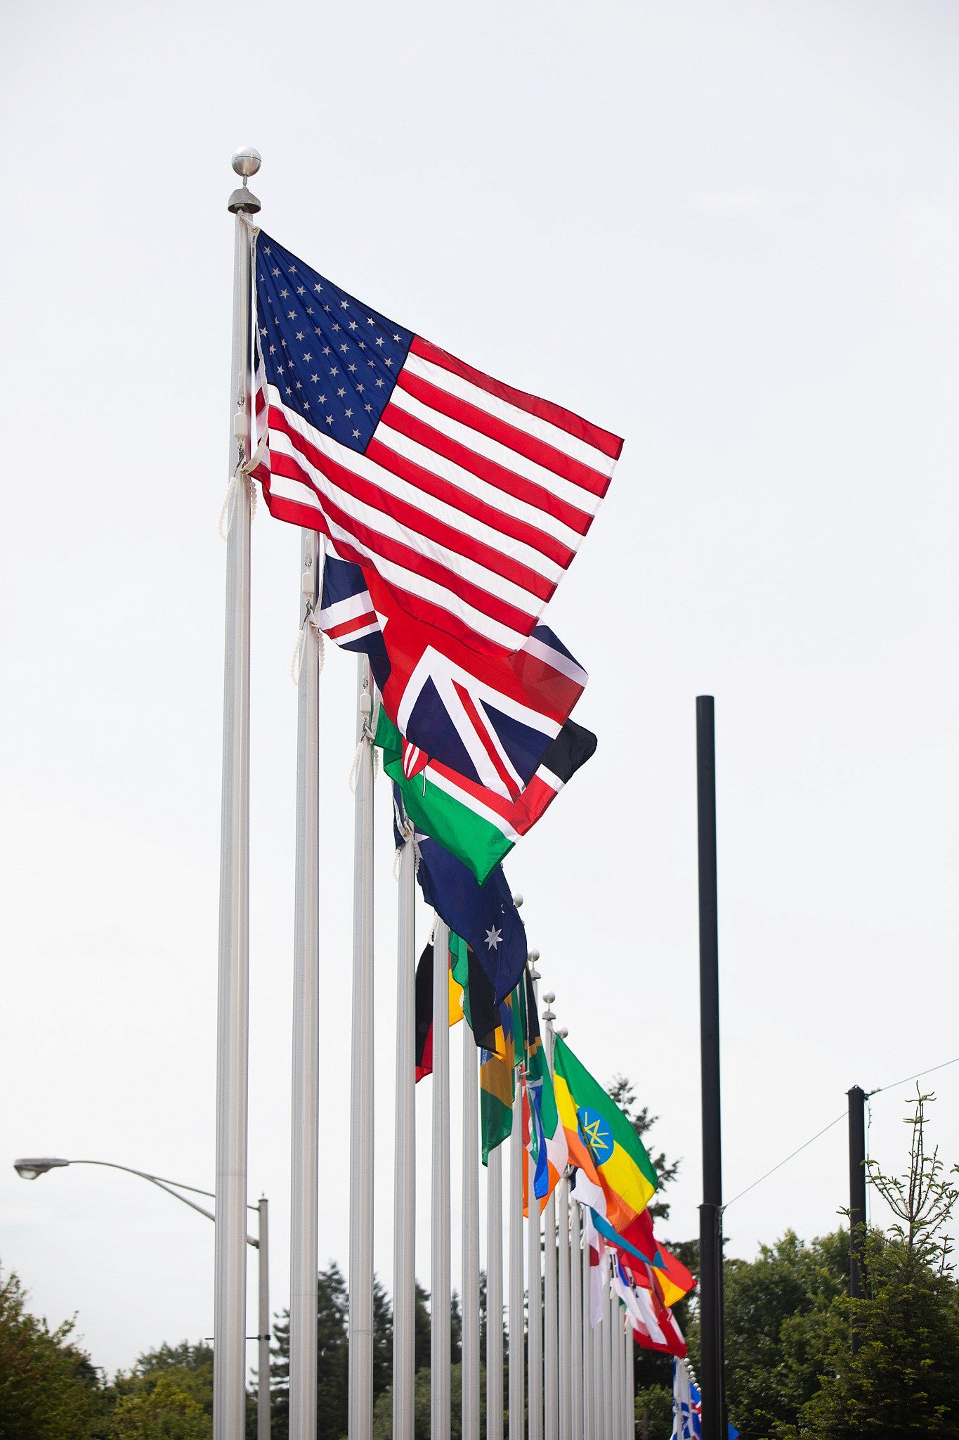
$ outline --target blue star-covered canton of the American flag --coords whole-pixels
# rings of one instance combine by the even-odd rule
[[[413,331],[354,300],[262,230],[256,297],[266,379],[286,409],[365,454]]]

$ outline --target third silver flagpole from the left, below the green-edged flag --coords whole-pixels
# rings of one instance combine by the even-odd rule
[[[349,1440],[371,1440],[372,1436],[372,744],[368,739],[371,720],[370,662],[365,655],[359,655],[349,1089]]]

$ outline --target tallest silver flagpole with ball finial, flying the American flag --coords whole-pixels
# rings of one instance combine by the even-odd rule
[[[213,1433],[237,1440],[246,1426],[246,1158],[250,1031],[250,225],[260,202],[246,181],[256,150],[233,156],[243,186],[227,209],[233,238],[233,477],[226,560],[220,946],[217,969],[216,1238],[213,1261]]]

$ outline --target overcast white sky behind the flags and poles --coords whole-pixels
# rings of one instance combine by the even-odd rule
[[[726,1195],[851,1084],[959,1054],[956,6],[91,0],[3,26],[0,1263],[35,1308],[76,1312],[108,1369],[211,1333],[207,1221],[121,1175],[26,1185],[10,1162],[213,1182],[240,144],[286,246],[627,439],[549,613],[600,750],[508,874],[571,1044],[630,1076],[683,1156],[666,1234],[696,1233],[700,1184],[697,693],[717,716]],[[280,1309],[299,539],[263,507],[253,530],[250,1197],[272,1201]],[[345,1267],[352,660],[322,685],[319,1253]],[[377,808],[391,1284],[385,788]],[[930,1081],[952,1164],[959,1066]],[[873,1102],[886,1165],[907,1093]],[[838,1125],[732,1205],[732,1253],[834,1227],[844,1143]]]

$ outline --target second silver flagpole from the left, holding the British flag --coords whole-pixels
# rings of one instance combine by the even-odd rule
[[[316,1243],[319,1211],[319,537],[302,530],[303,629],[296,724],[296,922],[290,1176],[289,1436],[316,1434]]]

